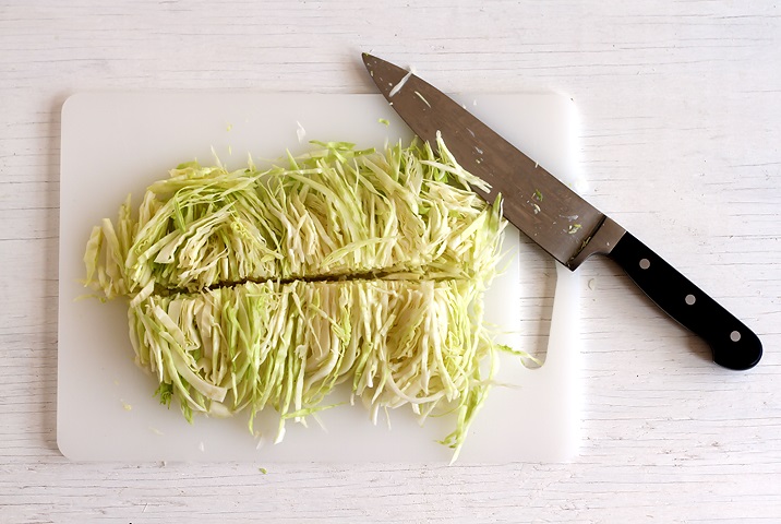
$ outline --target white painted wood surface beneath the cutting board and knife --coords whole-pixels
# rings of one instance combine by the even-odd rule
[[[777,3],[70,3],[0,2],[0,521],[779,522]],[[707,347],[598,260],[579,270],[585,441],[572,463],[263,475],[65,461],[55,439],[64,98],[371,92],[361,50],[413,64],[446,91],[574,98],[589,200],[754,327],[760,365],[716,368]],[[525,298],[530,332],[544,329],[549,302],[550,293]]]

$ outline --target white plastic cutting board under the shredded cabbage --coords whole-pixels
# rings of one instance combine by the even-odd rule
[[[574,182],[573,104],[552,94],[461,95],[465,107],[530,156]],[[387,124],[379,119],[386,119]],[[357,403],[327,409],[322,427],[288,424],[274,444],[276,418],[261,416],[260,439],[247,416],[196,417],[189,425],[178,407],[153,397],[155,379],[133,362],[127,305],[80,299],[85,242],[93,225],[113,218],[128,193],[137,205],[147,184],[168,169],[197,158],[229,168],[252,155],[278,158],[286,148],[302,153],[309,140],[349,141],[382,147],[409,140],[408,128],[380,95],[257,93],[85,93],[62,108],[60,179],[60,296],[57,441],[74,461],[252,461],[447,463],[450,450],[436,443],[453,428],[452,416],[421,427],[409,407],[382,414],[377,425]],[[513,195],[507,195],[513,198]],[[555,278],[546,359],[527,369],[502,357],[497,385],[479,413],[459,463],[565,461],[578,442],[578,282],[550,262],[545,271],[521,267],[539,248],[509,228],[512,260],[485,296],[486,321],[501,342],[518,349],[524,282]],[[537,260],[537,259],[536,259]],[[553,287],[551,287],[552,289]],[[528,344],[528,342],[526,342]],[[344,392],[339,394],[344,395]],[[338,395],[337,395],[338,397]],[[337,398],[338,400],[338,398]]]

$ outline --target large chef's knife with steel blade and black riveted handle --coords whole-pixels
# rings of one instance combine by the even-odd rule
[[[363,63],[412,131],[433,147],[441,133],[456,160],[492,187],[490,193],[474,191],[489,202],[502,193],[505,218],[554,259],[574,271],[592,254],[608,255],[670,317],[704,338],[716,364],[744,370],[759,361],[761,343],[743,322],[462,106],[393,63],[368,53]]]

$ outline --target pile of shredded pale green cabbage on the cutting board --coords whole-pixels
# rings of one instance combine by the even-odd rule
[[[464,444],[496,352],[482,296],[501,255],[488,204],[438,139],[383,152],[313,142],[260,170],[193,162],[128,196],[86,246],[85,285],[129,301],[135,361],[184,416],[272,408],[277,442],[338,384],[376,422],[455,413]]]

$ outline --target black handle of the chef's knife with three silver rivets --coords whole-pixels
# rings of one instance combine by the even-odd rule
[[[708,343],[716,364],[744,370],[759,361],[759,337],[632,234],[609,255],[670,317]]]

